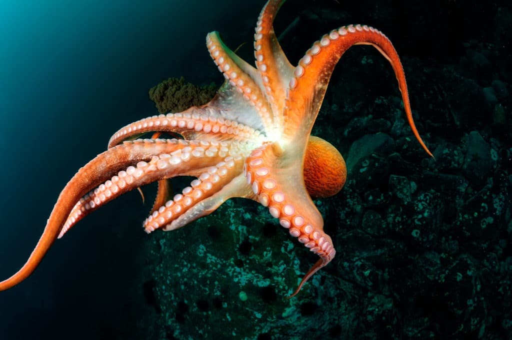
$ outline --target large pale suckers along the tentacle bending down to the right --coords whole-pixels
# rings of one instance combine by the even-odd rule
[[[247,157],[244,165],[244,174],[247,183],[258,201],[268,207],[270,215],[279,219],[279,223],[291,236],[297,237],[309,250],[325,261],[330,261],[336,254],[331,238],[323,230],[317,230],[293,206],[293,200],[286,197],[280,184],[271,176],[270,169],[265,166],[264,152],[266,146],[254,149]]]

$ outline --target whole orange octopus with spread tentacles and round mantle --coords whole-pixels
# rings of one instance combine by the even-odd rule
[[[17,273],[0,282],[6,290],[35,270],[57,238],[116,197],[158,182],[145,232],[172,231],[211,214],[224,201],[259,202],[291,236],[319,259],[289,296],[334,258],[331,237],[312,197],[338,193],[347,178],[342,155],[311,135],[331,74],[354,45],[375,47],[392,65],[409,125],[415,127],[403,67],[391,41],[366,25],[334,29],[313,43],[293,66],[274,33],[273,20],[284,0],[269,0],[254,33],[255,67],[241,59],[218,32],[206,36],[211,58],[225,81],[207,104],[152,116],[119,129],[108,149],[71,178],[61,191],[32,254]],[[144,135],[146,138],[142,139]],[[176,137],[160,138],[162,135]],[[168,180],[196,177],[170,197]]]

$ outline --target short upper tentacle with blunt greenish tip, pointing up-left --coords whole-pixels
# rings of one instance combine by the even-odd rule
[[[272,126],[271,107],[261,90],[261,78],[257,70],[231,51],[221,40],[219,32],[208,33],[206,46],[226,81],[254,106],[268,131]]]

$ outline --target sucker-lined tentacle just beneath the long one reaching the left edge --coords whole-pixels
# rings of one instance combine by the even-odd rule
[[[127,191],[160,179],[178,175],[196,175],[204,172],[205,168],[221,162],[228,154],[239,154],[236,143],[222,143],[221,146],[217,142],[170,141],[176,145],[172,152],[155,154],[150,162],[141,161],[135,166],[130,165],[106,180],[94,191],[84,195],[73,207],[58,238],[61,238],[83,217]]]

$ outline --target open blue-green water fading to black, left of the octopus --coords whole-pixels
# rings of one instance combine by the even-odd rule
[[[118,128],[157,113],[148,89],[182,75],[220,82],[206,33],[252,28],[260,9],[226,0],[0,3],[2,279],[25,262],[78,168]],[[123,310],[136,303],[130,277],[147,207],[127,196],[80,223],[29,280],[0,294],[0,339],[129,332],[122,324],[133,315]]]

